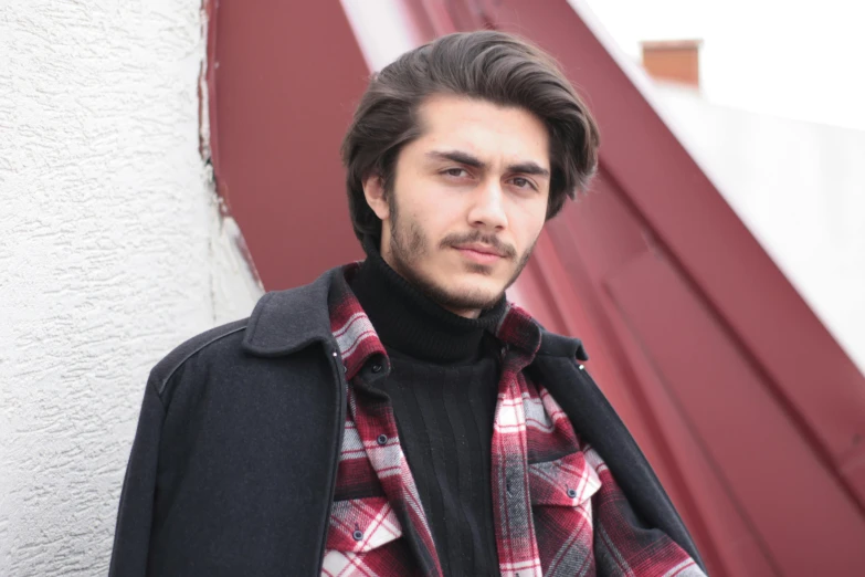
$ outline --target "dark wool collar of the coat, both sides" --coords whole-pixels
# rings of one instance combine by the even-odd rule
[[[246,325],[244,350],[261,357],[278,357],[313,343],[334,343],[327,297],[338,274],[342,274],[342,266],[330,269],[310,284],[262,296]],[[589,358],[579,338],[545,329],[541,329],[537,354],[579,360]]]

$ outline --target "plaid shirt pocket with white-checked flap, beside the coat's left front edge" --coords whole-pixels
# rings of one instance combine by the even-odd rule
[[[409,562],[401,537],[402,526],[387,497],[337,501],[330,511],[321,576],[391,575]]]

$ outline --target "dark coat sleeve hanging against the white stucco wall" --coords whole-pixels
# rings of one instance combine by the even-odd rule
[[[165,416],[165,407],[157,390],[157,379],[151,374],[145,390],[138,429],[120,493],[109,577],[145,577],[147,574],[159,444]]]

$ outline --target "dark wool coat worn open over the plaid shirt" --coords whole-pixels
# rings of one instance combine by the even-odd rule
[[[327,307],[336,274],[265,294],[250,318],[191,338],[152,369],[110,576],[320,574],[346,411]],[[586,359],[578,339],[545,332],[527,370],[603,457],[643,522],[703,567],[652,468],[578,359]]]

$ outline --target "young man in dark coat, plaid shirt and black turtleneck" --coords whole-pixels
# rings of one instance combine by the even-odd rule
[[[375,76],[342,147],[367,260],[156,366],[112,575],[704,575],[580,342],[504,296],[597,148],[507,34]]]

